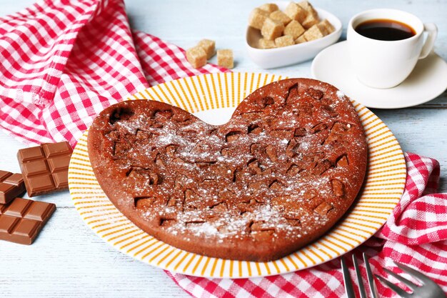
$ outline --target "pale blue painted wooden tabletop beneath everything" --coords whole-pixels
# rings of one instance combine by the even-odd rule
[[[32,2],[1,1],[0,14],[18,11]],[[184,48],[202,38],[214,39],[219,48],[233,49],[234,71],[263,71],[248,59],[243,39],[249,12],[265,2],[127,0],[126,6],[135,29]],[[345,28],[353,14],[365,9],[391,7],[410,11],[423,21],[438,25],[436,52],[447,59],[447,0],[312,3],[336,14]],[[345,36],[343,30],[342,39]],[[267,72],[310,77],[310,65],[308,61]],[[447,171],[446,92],[420,106],[373,111],[390,127],[403,150],[438,159],[441,174]],[[3,132],[0,144],[0,168],[19,172],[16,152],[24,145]],[[443,192],[447,192],[446,177],[442,174]],[[0,242],[0,297],[189,297],[161,269],[127,257],[91,232],[74,209],[68,192],[39,199],[56,203],[58,209],[32,246]]]

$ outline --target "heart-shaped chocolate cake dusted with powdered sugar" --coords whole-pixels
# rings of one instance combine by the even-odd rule
[[[228,123],[123,101],[89,130],[111,202],[145,232],[209,257],[270,261],[321,237],[348,210],[367,144],[351,101],[312,79],[257,89]]]

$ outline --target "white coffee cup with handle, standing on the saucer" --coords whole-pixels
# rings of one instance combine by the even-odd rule
[[[371,39],[356,32],[356,26],[373,19],[390,19],[411,26],[414,36],[396,41]],[[424,42],[424,34],[428,36]],[[371,9],[353,16],[348,24],[348,50],[358,80],[373,88],[391,88],[411,74],[418,59],[431,53],[438,29],[418,17],[396,9]]]

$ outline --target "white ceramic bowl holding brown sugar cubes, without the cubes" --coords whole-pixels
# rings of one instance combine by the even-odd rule
[[[289,1],[276,1],[279,9],[283,11]],[[303,44],[295,44],[293,46],[284,46],[276,49],[257,49],[259,39],[261,39],[261,32],[258,29],[254,29],[251,26],[247,28],[246,34],[246,48],[248,56],[254,63],[261,66],[263,69],[273,69],[279,66],[286,66],[290,64],[296,64],[298,62],[312,59],[322,49],[336,43],[341,36],[341,21],[333,14],[323,9],[315,8],[318,12],[318,17],[328,19],[328,21],[335,27],[335,31],[331,34],[324,36],[321,39],[313,41],[307,41]]]

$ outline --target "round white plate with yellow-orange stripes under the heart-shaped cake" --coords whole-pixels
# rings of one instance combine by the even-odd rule
[[[272,74],[226,73],[169,81],[129,99],[154,99],[179,106],[214,124],[259,87],[285,79]],[[398,141],[371,111],[353,103],[368,138],[368,173],[360,198],[347,217],[318,241],[273,262],[240,262],[204,257],[171,247],[141,231],[124,217],[99,187],[87,152],[87,131],[71,157],[70,194],[86,224],[99,237],[131,257],[172,272],[201,277],[261,277],[321,264],[358,247],[381,226],[403,193],[406,164]]]

